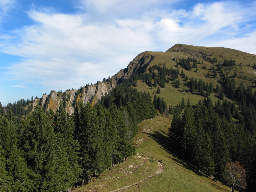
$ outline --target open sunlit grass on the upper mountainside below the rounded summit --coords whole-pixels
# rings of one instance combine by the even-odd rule
[[[142,54],[142,53],[141,53]],[[245,53],[238,50],[228,49],[228,48],[219,48],[219,47],[197,47],[192,45],[182,45],[182,44],[176,44],[166,52],[152,52],[152,51],[146,51],[143,53],[144,56],[150,55],[153,56],[153,60],[149,63],[148,67],[153,66],[155,64],[165,63],[165,66],[170,68],[176,68],[176,61],[173,61],[173,57],[177,59],[177,61],[181,58],[187,59],[188,57],[196,58],[197,61],[200,60],[201,64],[197,64],[198,71],[196,72],[196,69],[193,69],[191,71],[186,71],[184,68],[179,68],[179,72],[181,74],[181,70],[183,69],[185,75],[188,76],[190,79],[191,77],[197,78],[198,80],[201,78],[203,81],[208,83],[213,83],[214,88],[217,83],[221,84],[219,81],[219,78],[221,76],[220,72],[217,72],[217,77],[213,77],[213,70],[211,70],[212,66],[217,69],[218,62],[223,63],[224,60],[236,60],[235,66],[233,68],[230,67],[224,67],[223,70],[225,74],[228,77],[232,77],[234,73],[236,72],[238,76],[234,78],[236,82],[236,86],[238,87],[241,82],[245,86],[252,86],[253,92],[256,90],[255,85],[255,79],[256,79],[256,69],[253,68],[253,65],[256,63],[256,55]],[[211,59],[217,58],[217,62],[211,62]],[[203,69],[204,64],[206,65],[206,69]],[[241,64],[240,64],[241,63]],[[248,66],[250,63],[250,66]],[[191,62],[192,64],[192,62]],[[240,66],[239,66],[240,65]],[[211,74],[211,77],[207,78],[206,75],[208,71]],[[169,84],[166,84],[165,88],[160,88],[160,94],[157,96],[164,97],[167,105],[176,106],[181,102],[181,98],[184,97],[185,101],[189,98],[192,105],[195,105],[198,103],[199,99],[203,99],[203,96],[200,96],[199,94],[191,94],[187,92],[188,87],[184,86],[185,79],[179,77],[180,79],[180,88],[177,88],[174,82],[169,82]],[[153,87],[151,90],[149,86],[147,86],[142,81],[138,81],[136,89],[138,91],[146,91],[151,93],[151,96],[154,97],[154,94],[157,92],[157,87]],[[226,96],[226,95],[225,95]],[[212,93],[210,95],[210,98],[213,101],[213,104],[215,101],[219,99],[218,94]]]

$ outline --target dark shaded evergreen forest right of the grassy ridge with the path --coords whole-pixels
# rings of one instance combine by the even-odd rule
[[[255,131],[236,125],[217,112],[218,107],[213,107],[211,99],[204,99],[195,109],[188,105],[181,116],[174,113],[170,150],[195,165],[197,171],[222,182],[226,164],[239,161],[246,169],[248,191],[252,191],[256,181]]]

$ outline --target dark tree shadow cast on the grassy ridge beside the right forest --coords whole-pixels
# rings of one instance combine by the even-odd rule
[[[145,132],[144,132],[145,133]],[[167,156],[168,158],[171,159],[171,162],[180,165],[181,167],[184,167],[186,169],[189,169],[191,171],[193,171],[195,174],[202,176],[203,174],[201,172],[198,172],[198,170],[195,168],[194,165],[192,165],[191,163],[181,159],[181,157],[179,155],[177,155],[177,152],[174,151],[174,149],[172,149],[169,146],[169,142],[168,142],[168,137],[166,136],[166,132],[162,131],[154,131],[153,133],[145,133],[147,134],[149,137],[151,137],[152,139],[154,139],[159,145],[161,145],[162,149],[171,154],[173,157],[171,156]],[[181,160],[180,160],[181,159]]]

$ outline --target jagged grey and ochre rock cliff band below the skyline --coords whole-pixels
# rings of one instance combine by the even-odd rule
[[[53,111],[56,111],[62,101],[67,112],[72,114],[76,104],[80,101],[84,104],[87,102],[91,102],[93,105],[96,104],[102,96],[110,93],[115,86],[118,86],[123,80],[130,78],[132,74],[143,73],[153,59],[154,56],[147,51],[140,53],[128,64],[127,68],[120,70],[109,80],[98,82],[94,85],[87,85],[80,89],[66,90],[64,93],[51,91],[49,95],[43,94],[40,99],[40,105],[45,109],[51,108]],[[35,101],[33,106],[36,102],[38,101]]]

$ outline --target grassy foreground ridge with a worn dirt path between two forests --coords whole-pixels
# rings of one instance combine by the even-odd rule
[[[191,170],[189,164],[166,150],[171,121],[156,117],[141,122],[134,138],[137,154],[77,190],[85,191],[225,191],[230,189]]]

